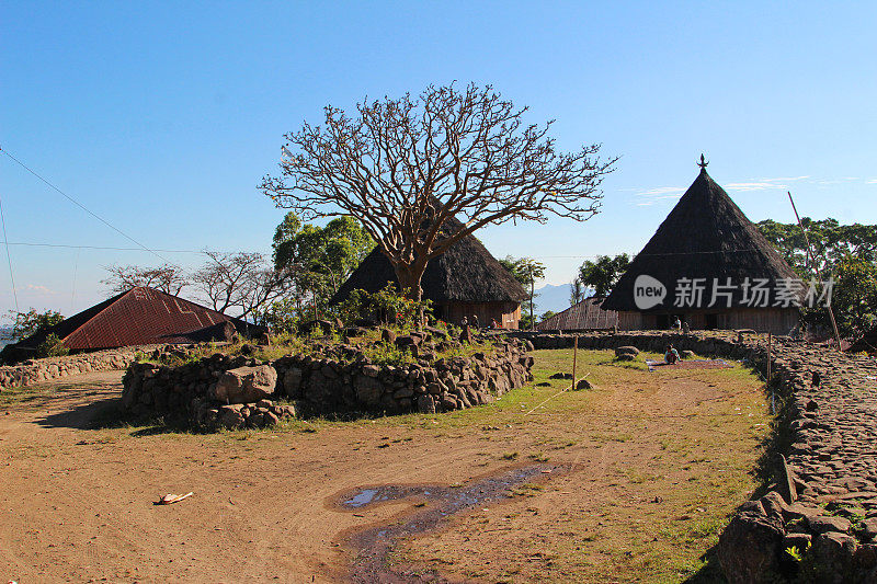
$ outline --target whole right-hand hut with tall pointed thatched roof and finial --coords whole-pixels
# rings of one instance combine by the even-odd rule
[[[798,323],[799,282],[725,190],[701,173],[603,302],[620,329],[693,329],[786,334]],[[663,296],[662,296],[663,294]],[[659,298],[660,297],[660,298]]]

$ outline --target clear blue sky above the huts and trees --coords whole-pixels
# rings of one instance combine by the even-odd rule
[[[284,133],[453,80],[556,119],[561,148],[622,156],[594,219],[480,232],[546,283],[636,253],[702,151],[753,220],[793,220],[791,190],[804,215],[877,224],[874,2],[3,2],[0,19],[0,147],[149,248],[270,251],[284,211],[255,186]],[[4,156],[0,197],[11,242],[132,247]],[[10,254],[21,308],[65,314],[105,297],[103,266],[160,263]]]

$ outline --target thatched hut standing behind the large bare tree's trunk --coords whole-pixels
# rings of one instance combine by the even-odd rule
[[[453,230],[460,227],[456,219],[447,225]],[[355,289],[376,293],[389,282],[398,285],[392,264],[379,247],[375,248],[330,302],[344,300]],[[420,286],[423,298],[432,300],[435,316],[455,324],[463,317],[477,316],[482,327],[496,320],[502,328],[516,329],[521,302],[527,296],[523,286],[475,236],[463,238],[431,260]]]

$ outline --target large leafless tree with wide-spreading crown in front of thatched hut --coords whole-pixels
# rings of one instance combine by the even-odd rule
[[[358,219],[406,294],[420,299],[426,263],[477,229],[597,213],[616,159],[601,162],[600,145],[558,152],[551,122],[525,125],[526,110],[475,84],[366,100],[354,117],[327,106],[323,126],[285,135],[281,175],[265,176],[261,190],[306,220]]]

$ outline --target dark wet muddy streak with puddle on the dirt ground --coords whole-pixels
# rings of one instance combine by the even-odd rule
[[[384,485],[358,489],[341,497],[346,509],[364,509],[390,501],[418,499],[428,505],[414,511],[394,525],[381,525],[353,535],[349,543],[356,550],[351,580],[357,583],[412,583],[423,582],[422,573],[395,571],[387,558],[400,538],[432,531],[456,513],[475,506],[485,506],[512,496],[512,490],[527,482],[542,482],[569,470],[557,465],[533,465],[487,477],[466,486],[438,485],[400,486]],[[446,582],[433,573],[430,582]]]

